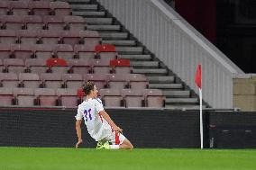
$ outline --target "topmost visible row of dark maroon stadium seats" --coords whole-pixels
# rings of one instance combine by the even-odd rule
[[[68,15],[71,13],[69,3],[56,1],[50,2],[49,0],[32,1],[32,0],[19,0],[19,1],[0,1],[0,14],[14,14],[14,15]]]

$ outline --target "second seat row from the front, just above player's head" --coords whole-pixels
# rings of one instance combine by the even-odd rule
[[[57,74],[0,73],[0,86],[26,88],[80,88],[92,81],[98,89],[146,89],[149,82],[141,74]]]

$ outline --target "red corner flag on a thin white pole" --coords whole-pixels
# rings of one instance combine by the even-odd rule
[[[199,64],[197,66],[197,73],[196,73],[196,77],[195,77],[195,83],[199,89],[199,98],[200,98],[200,141],[201,141],[201,149],[204,148],[204,132],[203,132],[203,105],[202,105],[202,101],[203,101],[203,96],[202,96],[202,69],[201,69],[201,65]]]

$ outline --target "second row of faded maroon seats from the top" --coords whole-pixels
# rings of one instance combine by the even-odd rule
[[[2,30],[74,30],[83,31],[86,20],[73,15],[0,15]]]

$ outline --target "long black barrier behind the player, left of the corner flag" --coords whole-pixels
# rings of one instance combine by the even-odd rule
[[[198,112],[106,110],[135,148],[199,148]],[[73,147],[76,110],[0,110],[0,146]],[[82,147],[95,148],[83,124]]]

